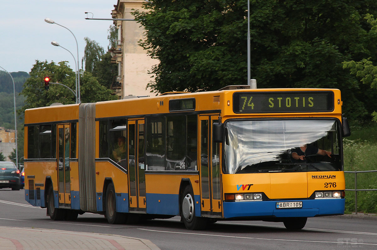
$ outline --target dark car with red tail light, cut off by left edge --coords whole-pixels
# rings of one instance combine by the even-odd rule
[[[0,188],[20,190],[20,170],[13,162],[0,162]]]

